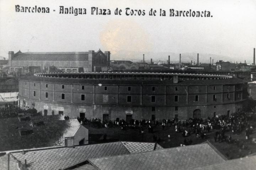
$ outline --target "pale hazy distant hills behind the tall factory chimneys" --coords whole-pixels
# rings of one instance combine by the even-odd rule
[[[180,60],[180,54],[172,53],[172,52],[138,52],[138,51],[117,51],[115,54],[111,55],[111,60],[130,60],[133,62],[137,62],[139,60],[143,60],[143,54],[145,54],[145,62],[150,62],[150,59],[153,59],[153,62],[158,62],[159,60],[165,62],[168,60],[168,56],[170,56],[171,63],[178,63]],[[228,56],[215,55],[215,54],[206,54],[199,53],[199,62],[200,63],[209,63],[210,57],[212,57],[213,62],[219,60],[226,60],[229,62],[235,62],[240,60],[239,58],[232,58]],[[190,63],[191,60],[197,63],[197,53],[181,53],[181,62]],[[244,62],[244,61],[241,61]]]

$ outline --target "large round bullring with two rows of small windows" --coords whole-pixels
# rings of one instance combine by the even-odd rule
[[[186,73],[38,73],[22,77],[19,106],[101,120],[207,118],[242,111],[247,82]]]

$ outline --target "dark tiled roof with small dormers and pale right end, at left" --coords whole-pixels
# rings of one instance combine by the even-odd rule
[[[33,117],[33,123],[43,122],[35,127],[31,121],[20,122],[18,118],[0,119],[0,151],[64,146],[64,137],[74,136],[80,127],[77,119],[63,120],[59,115],[49,118]],[[23,130],[30,131],[21,135]]]

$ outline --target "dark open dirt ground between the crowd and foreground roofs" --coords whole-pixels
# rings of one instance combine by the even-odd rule
[[[114,142],[114,141],[132,141],[132,142],[153,142],[153,135],[160,137],[158,142],[164,148],[178,147],[181,143],[184,143],[184,139],[192,140],[192,145],[199,144],[205,141],[209,141],[215,146],[226,158],[236,159],[245,157],[252,153],[256,153],[256,133],[255,131],[250,135],[248,140],[245,139],[245,132],[240,134],[232,134],[226,132],[225,135],[231,135],[233,142],[215,142],[214,135],[217,130],[213,130],[206,135],[206,138],[196,137],[195,134],[183,137],[181,133],[175,132],[174,126],[165,127],[162,130],[162,126],[154,126],[153,133],[149,133],[148,129],[144,129],[144,133],[140,134],[139,129],[126,129],[122,130],[120,127],[115,128],[92,128],[89,125],[84,125],[89,129],[89,144]],[[181,129],[186,127],[181,126]],[[103,140],[103,135],[107,134],[106,140]],[[168,135],[171,137],[168,138]],[[237,142],[239,141],[239,142]],[[244,145],[244,147],[243,147]]]

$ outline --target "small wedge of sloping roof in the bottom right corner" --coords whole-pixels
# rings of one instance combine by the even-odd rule
[[[193,170],[255,170],[256,156],[228,160],[223,163],[194,168]]]

